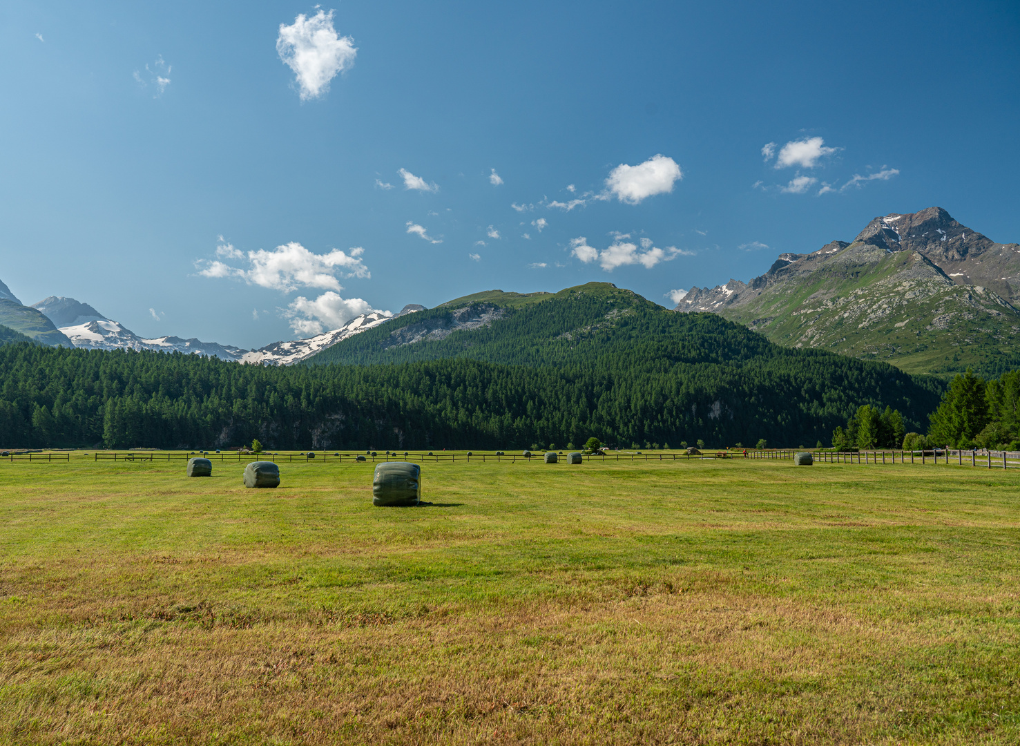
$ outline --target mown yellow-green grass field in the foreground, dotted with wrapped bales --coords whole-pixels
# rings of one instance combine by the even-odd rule
[[[0,743],[1015,744],[1020,473],[0,462]]]

